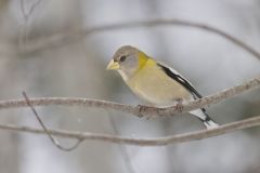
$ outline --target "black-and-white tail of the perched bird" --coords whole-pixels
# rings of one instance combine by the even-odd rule
[[[192,115],[196,116],[197,118],[199,118],[199,120],[203,121],[204,125],[209,130],[209,129],[214,129],[218,128],[219,124],[216,123],[206,112],[206,110],[204,108],[202,109],[197,109],[197,110],[193,110],[190,111]]]

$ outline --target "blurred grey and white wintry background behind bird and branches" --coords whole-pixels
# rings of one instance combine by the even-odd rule
[[[0,99],[79,96],[141,104],[119,75],[105,67],[121,45],[140,48],[169,64],[203,95],[260,75],[260,61],[219,36],[199,29],[159,26],[60,35],[116,23],[179,18],[220,28],[252,48],[260,44],[259,0],[0,0]],[[86,107],[37,107],[47,127],[81,132],[158,137],[204,129],[182,115],[139,119]],[[260,90],[208,108],[219,123],[260,116]],[[40,128],[28,108],[1,110],[1,123]],[[114,125],[112,125],[114,124]],[[84,142],[58,150],[46,135],[0,130],[2,173],[190,173],[260,172],[260,128],[165,147],[130,147]],[[75,141],[60,139],[70,146]]]

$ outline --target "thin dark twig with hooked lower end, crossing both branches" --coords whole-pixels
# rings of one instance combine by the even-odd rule
[[[64,151],[72,151],[74,149],[76,149],[79,144],[82,142],[80,138],[78,138],[77,143],[75,145],[73,145],[72,147],[63,147],[50,133],[50,131],[47,129],[47,127],[44,125],[43,121],[41,120],[40,116],[38,115],[38,112],[36,111],[36,109],[34,108],[34,106],[30,104],[30,101],[26,94],[26,92],[23,92],[23,96],[25,97],[26,104],[28,105],[28,107],[31,109],[31,111],[34,112],[35,117],[37,118],[37,120],[39,121],[41,128],[43,129],[43,131],[46,132],[46,134],[48,135],[48,137],[50,138],[50,141],[54,144],[54,146],[56,146],[58,149],[64,150]]]

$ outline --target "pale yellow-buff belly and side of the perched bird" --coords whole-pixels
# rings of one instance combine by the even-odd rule
[[[191,98],[190,92],[158,66],[143,68],[126,83],[138,96],[157,106],[170,106],[178,98]]]

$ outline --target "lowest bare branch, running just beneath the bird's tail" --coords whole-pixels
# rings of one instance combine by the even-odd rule
[[[101,142],[136,145],[136,146],[165,146],[170,144],[172,145],[178,143],[185,143],[191,141],[208,138],[212,136],[218,136],[218,135],[222,135],[222,134],[226,134],[226,133],[231,133],[234,131],[248,129],[257,125],[260,125],[260,116],[232,122],[212,130],[202,130],[197,132],[169,135],[169,136],[157,137],[157,138],[132,138],[132,137],[130,138],[130,137],[122,137],[122,136],[108,135],[108,134],[86,133],[86,132],[82,133],[82,132],[72,132],[72,131],[64,131],[64,130],[50,130],[50,129],[48,131],[52,135],[56,135],[60,137],[76,138],[81,142],[88,139],[88,141],[101,141]],[[16,127],[12,124],[0,123],[0,129],[18,131],[18,132],[28,132],[34,134],[46,134],[43,130],[34,129],[30,127]]]

